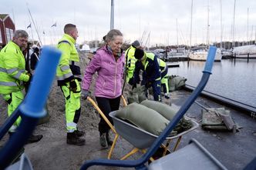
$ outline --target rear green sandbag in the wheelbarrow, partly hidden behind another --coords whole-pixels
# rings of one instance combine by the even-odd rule
[[[163,115],[164,118],[167,118],[167,120],[171,121],[177,113],[177,109],[173,109],[170,107],[170,105],[164,104],[162,102],[157,102],[153,100],[144,100],[140,103],[141,105],[145,105],[148,108],[151,108],[157,112],[160,113],[160,115]]]

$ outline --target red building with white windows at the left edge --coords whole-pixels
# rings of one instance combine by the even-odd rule
[[[0,45],[6,45],[12,40],[15,24],[8,14],[0,14]]]

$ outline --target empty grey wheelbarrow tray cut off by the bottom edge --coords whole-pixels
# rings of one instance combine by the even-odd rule
[[[197,169],[197,170],[227,170],[210,152],[196,139],[192,138],[190,144],[180,148],[152,162],[148,170],[164,169]]]

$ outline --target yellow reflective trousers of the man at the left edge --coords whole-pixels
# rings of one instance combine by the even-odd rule
[[[10,117],[12,113],[18,108],[19,104],[24,99],[22,91],[12,92],[8,95],[3,95],[5,101],[8,103],[8,116]],[[9,132],[15,132],[16,128],[19,126],[22,118],[19,116],[12,127],[9,129]]]

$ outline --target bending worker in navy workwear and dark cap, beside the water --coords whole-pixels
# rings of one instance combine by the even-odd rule
[[[153,88],[153,99],[161,101],[161,72],[157,62],[157,55],[153,53],[144,52],[140,48],[136,48],[134,57],[138,60],[136,62],[133,73],[133,88],[140,82],[140,70],[143,70],[143,78],[146,88]]]

